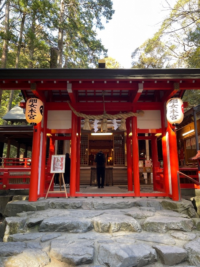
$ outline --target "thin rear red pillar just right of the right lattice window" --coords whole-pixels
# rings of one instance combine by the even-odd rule
[[[131,132],[130,117],[126,119],[127,127],[127,182],[128,191],[133,191],[133,178],[132,178],[132,156],[131,156],[131,139],[129,134]]]

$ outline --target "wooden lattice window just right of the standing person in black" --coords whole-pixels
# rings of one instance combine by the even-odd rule
[[[124,134],[114,134],[114,165],[125,164]]]

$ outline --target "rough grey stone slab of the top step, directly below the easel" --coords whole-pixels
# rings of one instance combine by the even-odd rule
[[[74,199],[51,199],[49,200],[49,208],[50,209],[79,209],[82,206],[81,200],[74,201]]]

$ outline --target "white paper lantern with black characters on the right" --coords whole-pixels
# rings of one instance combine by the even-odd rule
[[[184,109],[183,101],[178,98],[171,98],[167,101],[167,120],[173,126],[178,125],[183,121]]]

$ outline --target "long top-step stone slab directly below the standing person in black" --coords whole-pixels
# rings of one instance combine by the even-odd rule
[[[111,199],[109,201],[102,200],[101,201],[84,201],[82,204],[82,209],[127,209],[134,206],[134,202],[130,201],[116,201]]]

